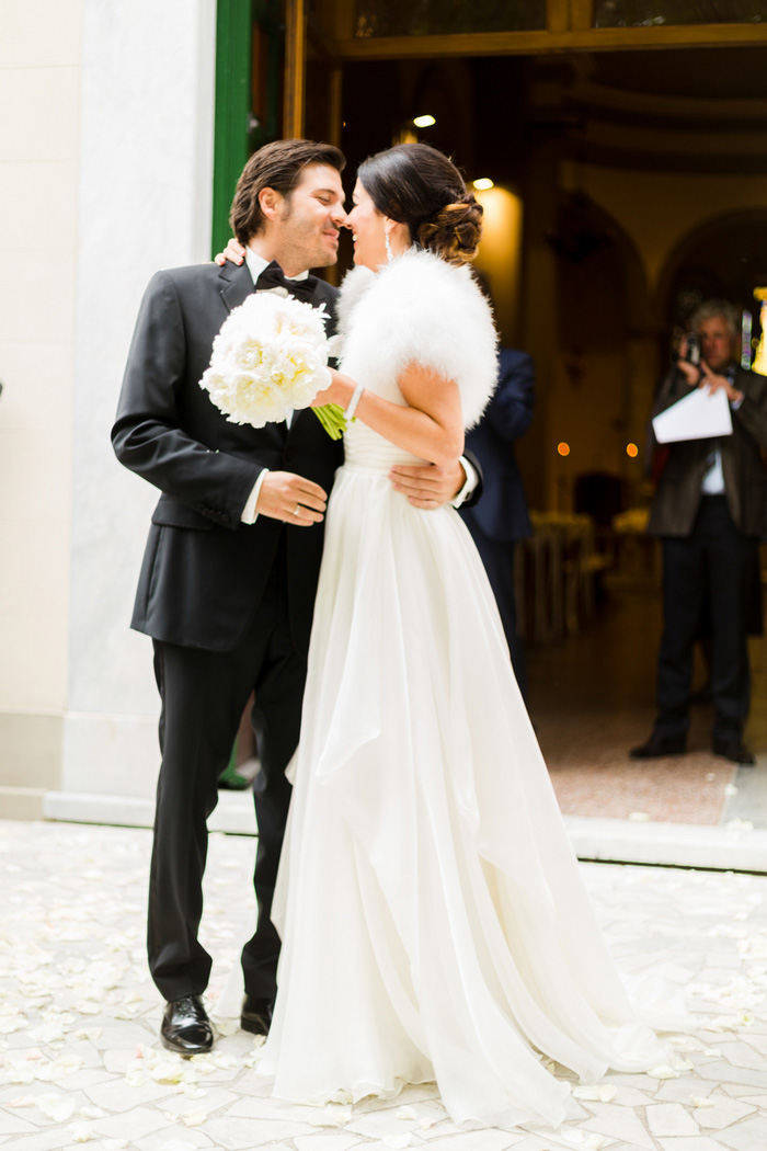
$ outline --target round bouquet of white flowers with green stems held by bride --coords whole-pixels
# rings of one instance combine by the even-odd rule
[[[231,424],[278,424],[330,384],[327,319],[324,304],[317,308],[293,296],[253,292],[213,341],[200,387]],[[346,427],[343,409],[325,404],[313,411],[337,440]]]

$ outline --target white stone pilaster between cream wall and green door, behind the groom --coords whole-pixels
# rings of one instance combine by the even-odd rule
[[[209,259],[215,0],[83,7],[68,687],[45,810],[120,818],[128,796],[143,818],[158,696],[129,622],[156,493],[117,464],[109,429],[149,276]]]

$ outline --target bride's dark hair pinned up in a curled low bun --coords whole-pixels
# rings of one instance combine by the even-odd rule
[[[436,147],[398,144],[365,160],[358,176],[378,212],[407,224],[414,244],[448,264],[477,254],[482,205]]]

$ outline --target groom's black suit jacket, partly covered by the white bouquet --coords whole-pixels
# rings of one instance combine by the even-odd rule
[[[333,314],[337,290],[312,303]],[[343,463],[310,411],[284,424],[230,424],[199,381],[231,308],[253,291],[246,265],[159,272],[139,312],[112,439],[117,458],[162,493],[141,565],[132,626],[156,640],[227,651],[246,633],[285,532],[293,642],[308,648],[323,525],[240,523],[262,468],[297,472],[330,491]],[[332,328],[329,325],[329,328]]]

